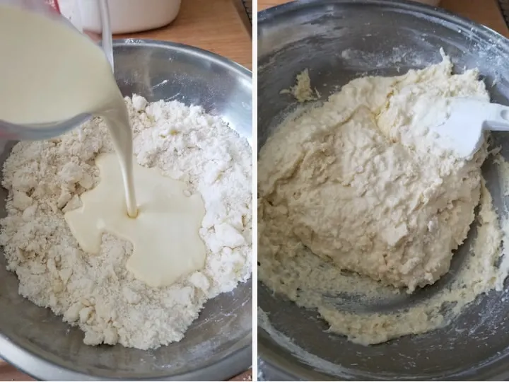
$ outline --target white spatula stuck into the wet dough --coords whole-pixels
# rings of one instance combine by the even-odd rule
[[[431,129],[444,149],[472,158],[481,148],[484,130],[509,132],[509,107],[472,98],[451,98],[447,118]]]

